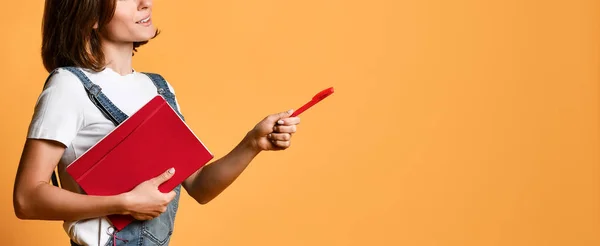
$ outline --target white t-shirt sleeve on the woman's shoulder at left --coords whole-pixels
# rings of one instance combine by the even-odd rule
[[[89,98],[77,76],[59,69],[38,98],[27,137],[69,146],[84,124],[84,100]]]

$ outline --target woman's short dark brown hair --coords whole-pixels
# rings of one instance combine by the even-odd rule
[[[42,60],[48,72],[65,66],[105,67],[99,33],[115,14],[117,0],[46,0]],[[98,28],[94,25],[98,23]],[[156,35],[158,35],[158,30]],[[156,37],[155,35],[155,37]],[[133,43],[134,51],[148,41]]]

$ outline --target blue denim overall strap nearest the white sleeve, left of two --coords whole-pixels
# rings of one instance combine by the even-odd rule
[[[94,102],[96,107],[102,111],[102,113],[115,125],[121,124],[124,120],[128,118],[128,116],[123,113],[119,108],[117,108],[107,97],[102,93],[102,88],[99,85],[92,83],[90,79],[85,76],[85,74],[75,67],[64,67],[64,69],[75,74],[85,90],[88,93],[88,96]]]

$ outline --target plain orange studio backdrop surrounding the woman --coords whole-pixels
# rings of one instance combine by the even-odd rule
[[[33,106],[43,1],[0,10],[0,234]],[[263,116],[336,93],[221,196],[182,197],[171,245],[600,245],[600,2],[155,1],[163,74],[221,157]]]

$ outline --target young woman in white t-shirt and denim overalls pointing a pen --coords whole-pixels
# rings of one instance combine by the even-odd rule
[[[72,245],[168,245],[180,189],[162,193],[157,187],[177,170],[166,170],[116,196],[86,195],[65,172],[73,160],[157,93],[179,113],[170,84],[132,68],[136,48],[157,34],[152,0],[46,0],[42,59],[50,75],[38,98],[16,174],[18,218],[65,221]],[[181,186],[198,203],[209,202],[261,151],[290,146],[300,122],[289,117],[291,113],[268,115],[230,153]],[[57,166],[62,188],[48,182]],[[115,231],[105,217],[111,214],[132,215],[136,221]]]

